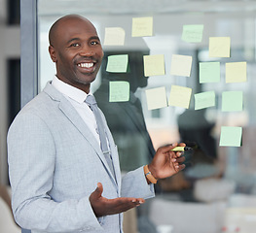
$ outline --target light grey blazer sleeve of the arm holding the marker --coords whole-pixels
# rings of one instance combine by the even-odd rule
[[[121,196],[135,198],[152,198],[155,196],[154,185],[148,184],[143,166],[128,172],[122,179]]]

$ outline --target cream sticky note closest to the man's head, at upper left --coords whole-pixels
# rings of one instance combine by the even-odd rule
[[[126,31],[122,27],[106,27],[104,46],[124,46]]]

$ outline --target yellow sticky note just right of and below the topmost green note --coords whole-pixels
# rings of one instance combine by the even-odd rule
[[[230,57],[231,38],[230,37],[210,37],[209,56],[210,57]]]

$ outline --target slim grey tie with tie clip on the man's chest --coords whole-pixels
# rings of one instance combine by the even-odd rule
[[[86,103],[91,108],[91,111],[94,114],[95,119],[96,119],[97,133],[99,135],[99,140],[100,140],[100,148],[101,148],[103,154],[105,155],[105,158],[107,160],[108,166],[109,166],[112,174],[115,176],[111,153],[110,153],[110,150],[108,149],[107,138],[106,138],[106,134],[105,134],[103,120],[100,116],[94,96],[88,95],[88,97],[86,99]]]

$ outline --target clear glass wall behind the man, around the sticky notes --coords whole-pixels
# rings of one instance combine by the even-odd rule
[[[254,233],[255,221],[248,219],[256,218],[256,3],[233,1],[227,4],[227,1],[205,0],[183,1],[182,4],[164,1],[159,4],[144,0],[106,0],[81,7],[81,1],[76,0],[40,0],[38,9],[41,80],[51,80],[54,75],[50,74],[53,67],[49,69],[50,63],[46,62],[50,60],[46,52],[46,35],[49,25],[57,17],[71,13],[89,17],[96,25],[101,41],[105,27],[125,30],[125,47],[104,47],[101,73],[92,85],[118,145],[123,172],[148,163],[154,154],[153,145],[158,148],[167,142],[185,141],[197,146],[193,155],[185,154],[188,165],[184,173],[160,183],[162,191],[157,193],[146,210],[160,232],[167,229],[172,233]],[[153,36],[132,38],[133,17],[153,17]],[[200,43],[182,40],[183,25],[189,24],[203,25]],[[209,37],[231,38],[230,57],[209,57]],[[107,56],[116,54],[128,54],[127,73],[106,72]],[[146,78],[142,57],[153,54],[165,55],[165,75]],[[190,77],[170,74],[172,54],[193,56]],[[200,62],[219,62],[216,72],[220,77],[213,77],[212,82],[212,77],[203,76],[203,80],[211,83],[200,83]],[[246,62],[245,83],[226,83],[227,62]],[[210,74],[202,75],[211,73],[210,69]],[[111,81],[129,83],[127,102],[109,103]],[[190,108],[185,111],[168,106],[149,111],[145,89],[165,86],[168,97],[172,84],[192,88]],[[205,91],[215,92],[215,106],[195,111],[194,94]],[[224,91],[242,91],[242,111],[222,112]],[[218,146],[223,125],[242,127],[242,147]],[[250,215],[248,208],[251,208]]]

